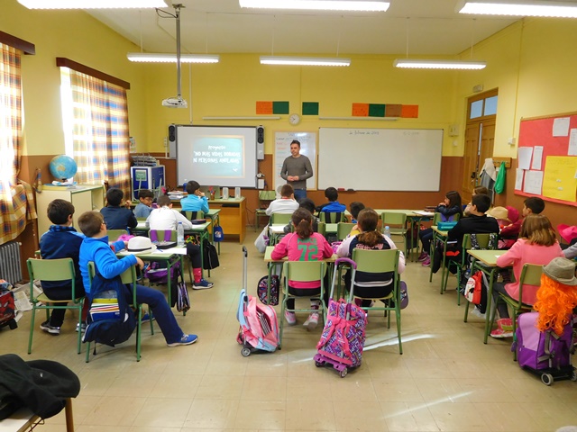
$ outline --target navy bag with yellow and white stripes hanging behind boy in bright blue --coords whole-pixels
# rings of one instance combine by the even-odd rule
[[[128,340],[136,328],[134,312],[126,301],[128,298],[132,298],[132,293],[120,275],[105,279],[96,269],[92,279],[88,326],[82,341],[114,347]]]

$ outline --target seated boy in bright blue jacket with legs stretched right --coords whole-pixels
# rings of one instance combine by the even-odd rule
[[[88,298],[90,297],[90,279],[88,276],[88,263],[90,261],[95,263],[98,272],[106,279],[122,275],[124,270],[131,266],[137,265],[141,269],[144,266],[142,259],[134,255],[128,255],[122,259],[116,257],[113,250],[108,246],[105,220],[98,211],[82,213],[78,218],[78,226],[87,236],[80,246],[79,265]],[[118,243],[122,242],[116,242],[116,244]],[[120,250],[119,247],[116,247],[116,250]],[[129,290],[132,290],[132,285]],[[131,298],[126,300],[132,302],[132,293]],[[197,342],[197,335],[187,335],[180,329],[163,293],[148,286],[136,285],[136,300],[151,307],[154,318],[158,322],[169,347],[179,347]]]

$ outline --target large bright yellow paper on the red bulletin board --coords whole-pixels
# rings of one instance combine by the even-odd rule
[[[575,201],[577,157],[549,156],[545,163],[543,195],[557,200]]]

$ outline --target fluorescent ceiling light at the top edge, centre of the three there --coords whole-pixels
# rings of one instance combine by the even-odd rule
[[[320,11],[385,12],[390,2],[383,0],[239,0],[241,7],[260,9],[307,9]]]

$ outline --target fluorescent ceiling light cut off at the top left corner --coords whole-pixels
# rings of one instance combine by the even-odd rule
[[[164,0],[18,0],[28,9],[142,9],[166,7]]]

